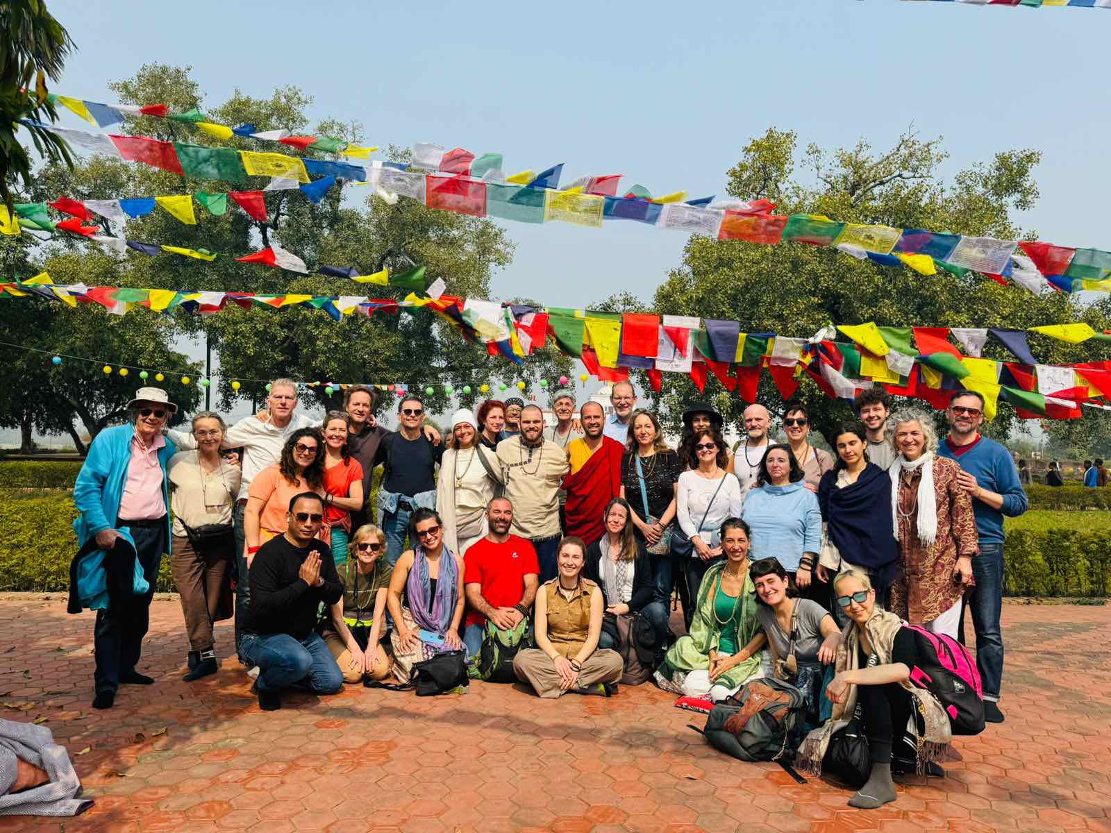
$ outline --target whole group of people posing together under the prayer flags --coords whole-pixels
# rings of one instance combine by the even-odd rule
[[[542,697],[612,694],[631,663],[648,663],[638,682],[711,700],[790,679],[815,721],[822,696],[862,703],[883,763],[884,744],[901,749],[905,697],[920,699],[899,669],[878,671],[905,669],[898,624],[963,638],[969,608],[987,717],[1002,721],[1002,519],[1027,499],[1010,454],[979,432],[978,393],[952,398],[939,442],[932,414],[891,413],[885,393],[863,391],[832,454],[811,443],[801,404],[788,405],[781,443],[768,410],[750,405],[732,450],[721,414],[697,404],[672,450],[628,382],[609,414],[563,391],[547,426],[536,404],[488,400],[477,415],[457,411],[447,436],[419,397],[401,398],[397,431],[377,424],[372,389],[348,388],[343,411],[317,424],[279,379],[259,413],[229,428],[202,412],[184,432],[166,429],[164,391],[137,392],[129,424],[96,438],[74,488],[71,609],[98,611],[96,707],[120,684],[152,682],[136,665],[169,553],[183,679],[217,671],[212,625],[233,609],[237,654],[267,710],[288,688],[403,683],[448,651],[473,671],[500,640]],[[863,693],[873,684],[885,693]],[[881,781],[865,789],[882,797],[890,772]]]

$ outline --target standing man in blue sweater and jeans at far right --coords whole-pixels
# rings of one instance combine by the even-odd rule
[[[983,712],[990,723],[1002,723],[999,693],[1003,681],[1003,515],[1018,518],[1030,505],[1022,490],[1014,459],[998,442],[978,430],[983,422],[983,397],[961,391],[950,400],[949,436],[939,456],[960,463],[957,483],[972,495],[980,554],[972,559],[975,586],[965,590],[964,604],[972,609],[975,628],[975,664],[983,681]],[[961,641],[964,616],[961,615]]]

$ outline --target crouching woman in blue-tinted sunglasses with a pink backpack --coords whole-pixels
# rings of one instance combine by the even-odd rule
[[[807,735],[795,765],[821,774],[830,740],[859,710],[872,769],[849,806],[874,810],[895,800],[892,771],[943,774],[933,762],[947,751],[952,727],[937,699],[910,682],[919,663],[914,638],[875,604],[868,576],[847,570],[833,579],[833,593],[850,620],[837,650],[837,676],[825,686],[833,714]]]

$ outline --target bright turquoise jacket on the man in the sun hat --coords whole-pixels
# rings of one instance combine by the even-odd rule
[[[73,532],[78,544],[84,548],[86,542],[103,530],[119,529],[116,521],[119,518],[120,500],[123,498],[123,486],[128,480],[128,464],[131,462],[131,438],[134,436],[132,425],[106,428],[92,441],[84,465],[73,483],[73,503],[78,515],[73,521]],[[158,462],[162,466],[162,500],[167,509],[170,505],[170,494],[166,480],[166,464],[177,453],[177,448],[169,440],[158,450]],[[126,526],[119,529],[131,545],[134,540]],[[166,514],[167,548],[170,545],[170,513]],[[142,595],[150,590],[150,584],[142,574],[142,565],[136,559],[133,592]],[[84,608],[99,610],[108,608],[108,590],[104,576],[104,551],[89,552],[77,565],[77,591]]]

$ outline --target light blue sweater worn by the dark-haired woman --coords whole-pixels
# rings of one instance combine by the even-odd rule
[[[799,569],[802,553],[822,546],[822,513],[818,495],[800,480],[787,485],[762,485],[744,498],[741,518],[752,530],[749,559],[779,559],[789,573]]]

